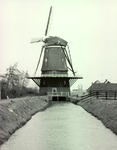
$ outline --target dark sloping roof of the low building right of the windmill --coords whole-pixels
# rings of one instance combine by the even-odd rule
[[[93,83],[88,89],[94,91],[117,91],[117,83]]]

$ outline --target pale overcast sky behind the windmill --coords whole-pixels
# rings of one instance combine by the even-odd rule
[[[0,0],[0,74],[18,62],[34,75],[42,43],[30,41],[44,36],[51,5],[49,35],[69,43],[73,67],[83,76],[72,88],[117,83],[116,0]]]

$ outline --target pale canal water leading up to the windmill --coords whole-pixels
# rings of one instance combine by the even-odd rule
[[[117,136],[80,106],[58,102],[33,116],[0,150],[117,150]]]

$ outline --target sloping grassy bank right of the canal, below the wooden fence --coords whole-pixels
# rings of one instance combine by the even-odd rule
[[[97,117],[117,135],[117,101],[87,98],[78,102],[87,112]]]

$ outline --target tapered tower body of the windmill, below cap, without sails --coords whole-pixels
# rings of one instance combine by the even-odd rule
[[[67,62],[61,46],[45,48],[41,72],[41,95],[69,95]]]

